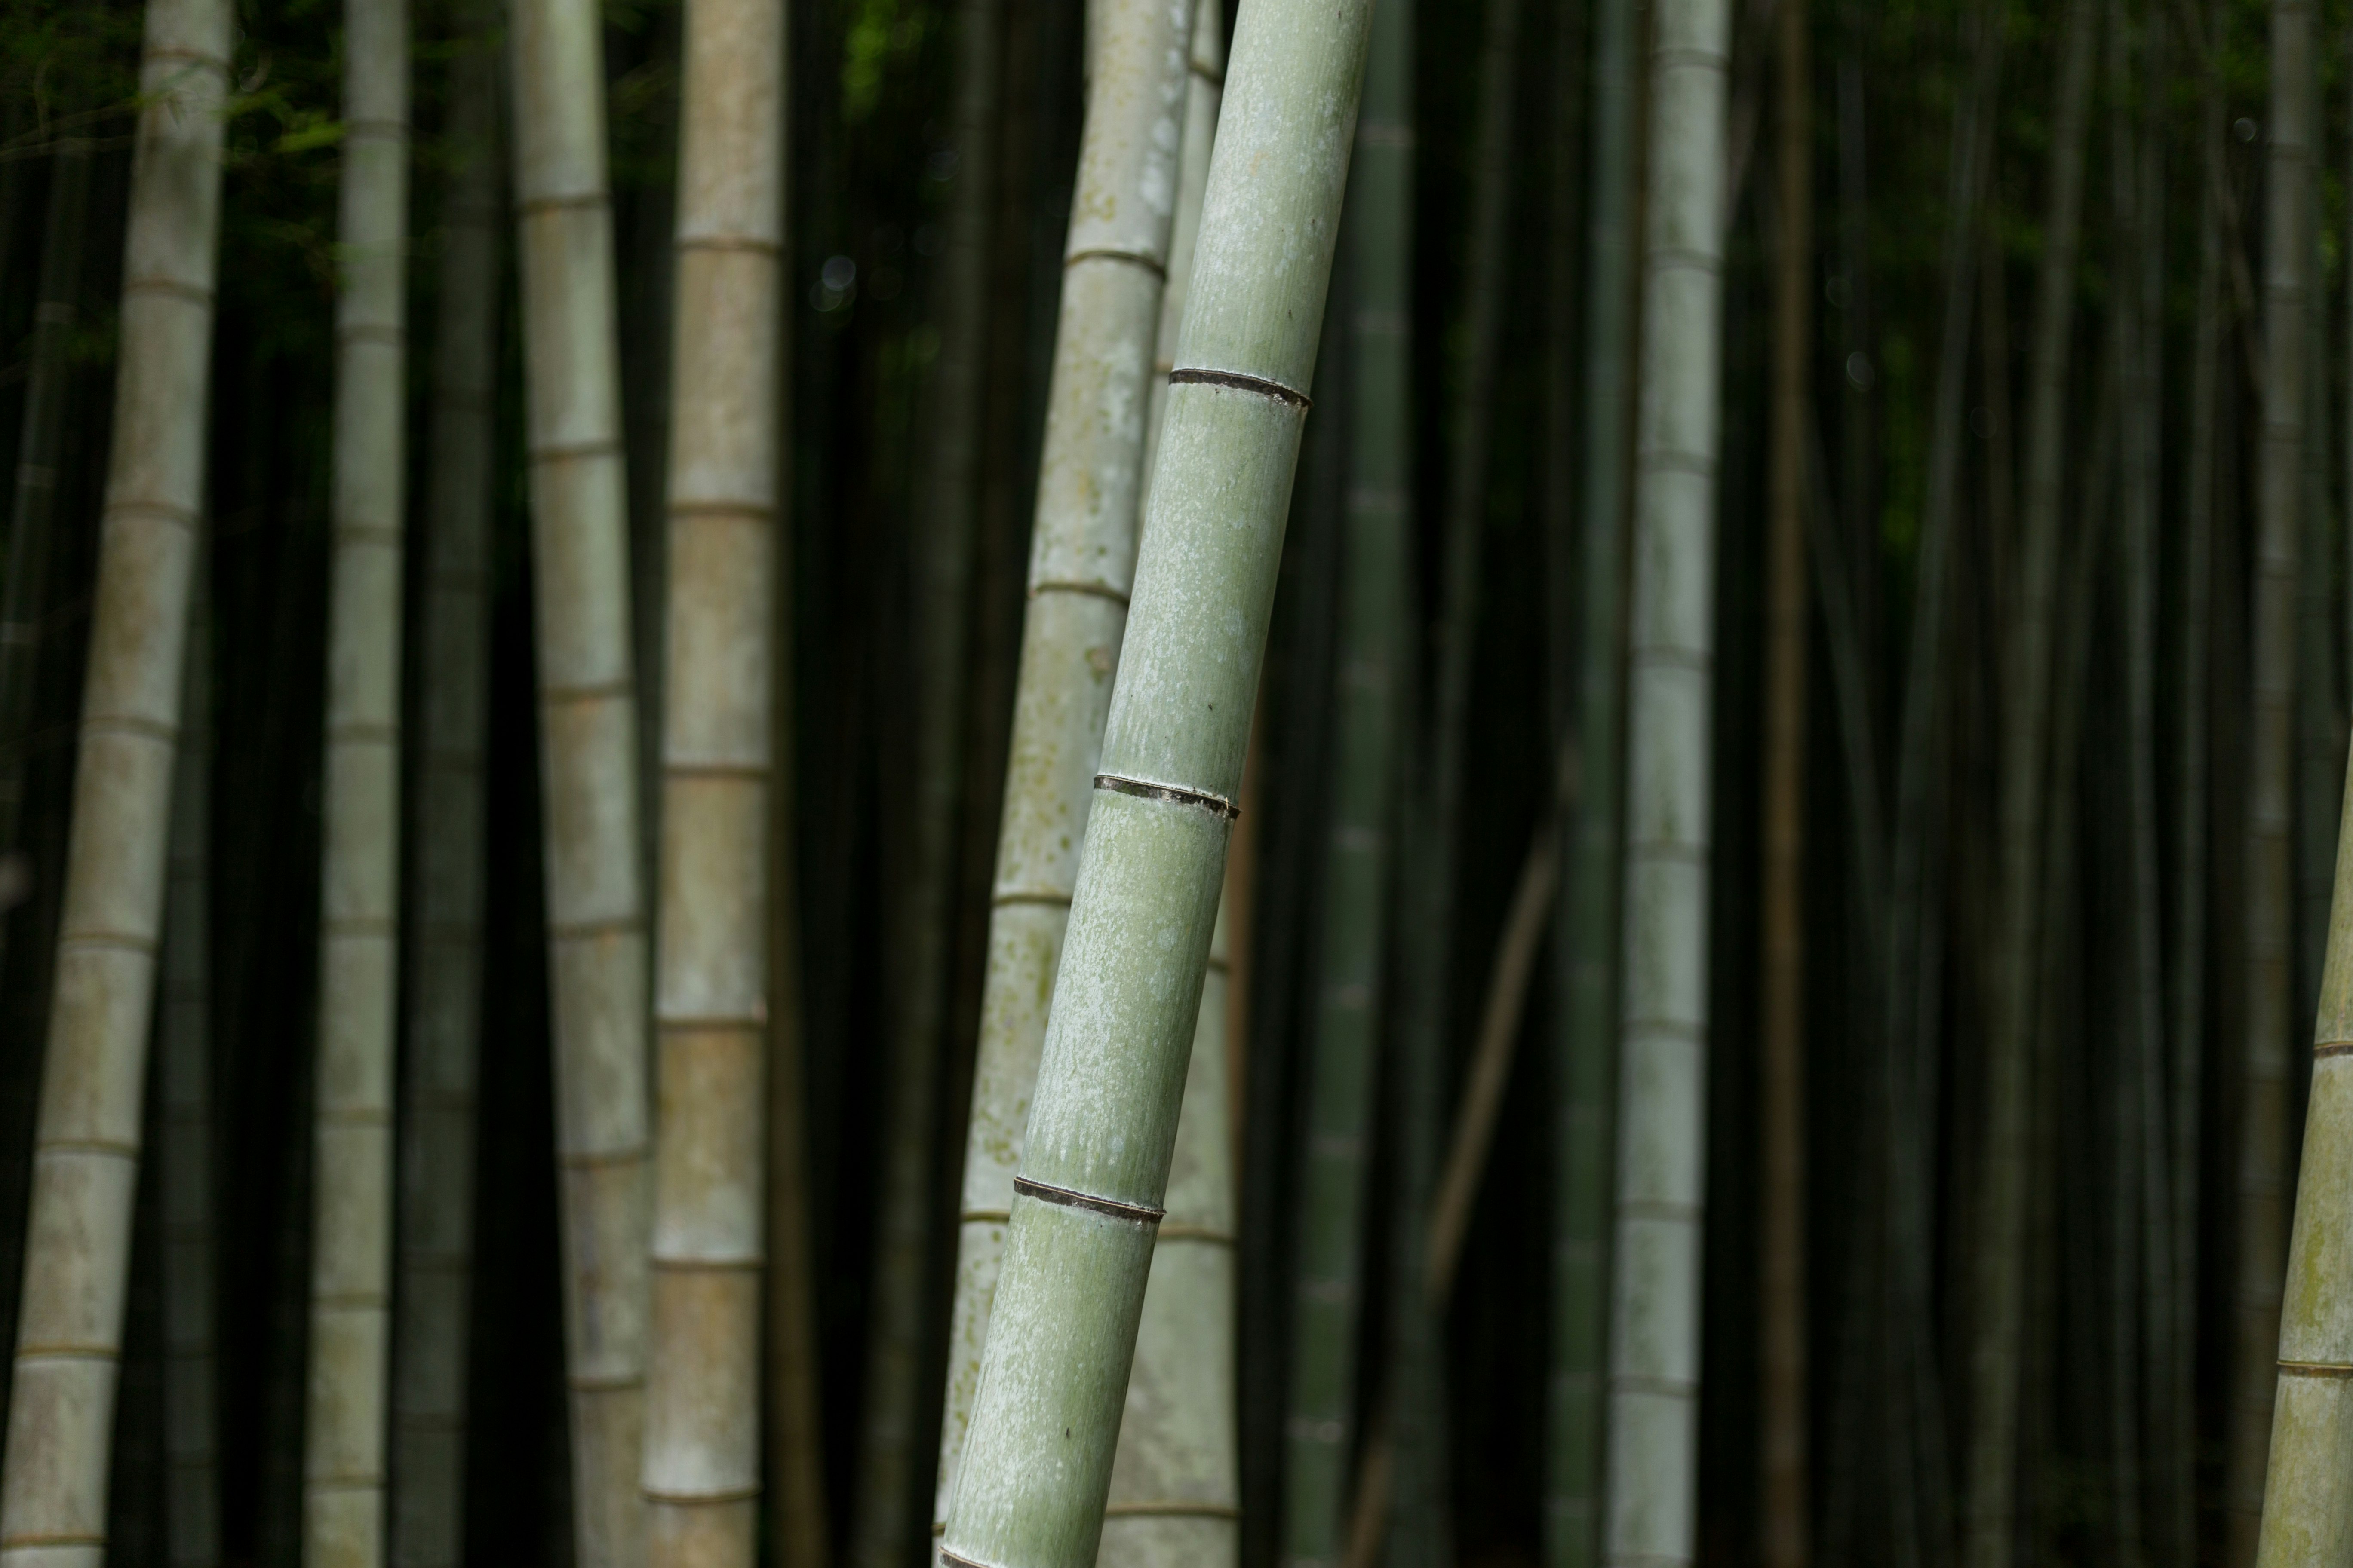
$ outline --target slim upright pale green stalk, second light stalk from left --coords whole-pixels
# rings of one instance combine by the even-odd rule
[[[400,952],[407,0],[344,5],[304,1563],[384,1561]]]

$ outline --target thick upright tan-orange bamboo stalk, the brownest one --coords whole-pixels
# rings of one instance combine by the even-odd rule
[[[656,903],[647,1561],[751,1568],[767,1234],[784,7],[687,0]]]

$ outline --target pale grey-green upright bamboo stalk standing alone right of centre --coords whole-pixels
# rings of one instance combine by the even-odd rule
[[[1626,649],[1607,1563],[1682,1563],[1697,1547],[1729,33],[1725,0],[1664,0],[1649,66]]]

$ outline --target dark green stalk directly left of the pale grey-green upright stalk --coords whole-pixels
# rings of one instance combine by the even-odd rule
[[[1593,0],[1579,487],[1577,755],[1555,931],[1553,1307],[1544,1436],[1546,1568],[1602,1561],[1602,1373],[1617,1164],[1619,839],[1626,799],[1626,433],[1633,409],[1635,5]],[[1555,454],[1567,461],[1569,454]]]

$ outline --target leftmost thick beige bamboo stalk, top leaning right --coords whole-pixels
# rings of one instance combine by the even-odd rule
[[[99,1568],[205,489],[231,7],[146,9],[106,512],[33,1133],[0,1563]]]

